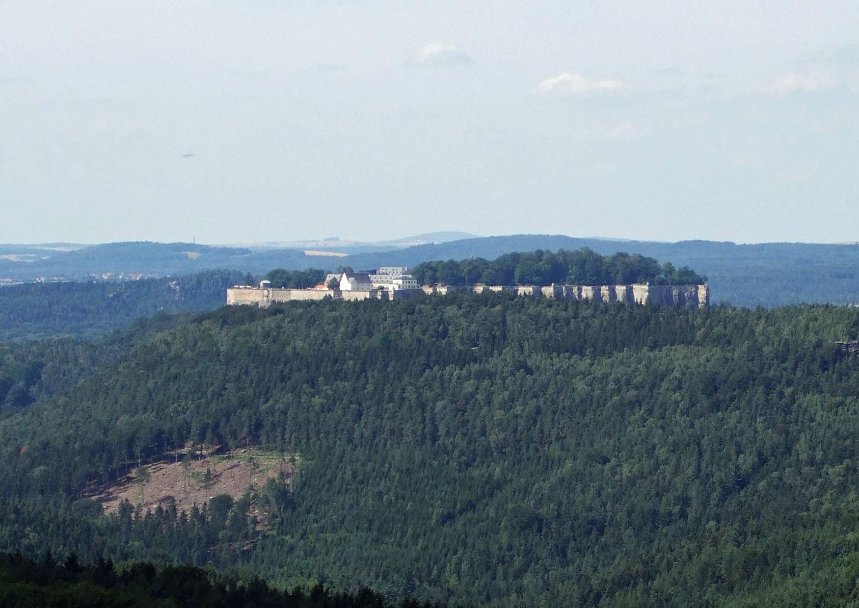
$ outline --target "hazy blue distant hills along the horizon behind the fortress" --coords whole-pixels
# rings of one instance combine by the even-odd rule
[[[444,234],[451,236],[451,233]],[[434,234],[426,234],[413,238],[435,237]],[[0,280],[34,280],[41,276],[74,280],[102,273],[165,276],[192,274],[212,268],[265,274],[272,268],[415,266],[432,260],[492,259],[512,251],[582,247],[602,255],[618,251],[640,253],[660,262],[672,262],[677,267],[695,268],[709,277],[711,301],[716,304],[730,302],[741,306],[775,307],[799,303],[859,302],[859,245],[856,244],[657,243],[551,234],[465,238],[403,248],[388,246],[384,250],[373,251],[363,247],[357,251],[336,247],[314,248],[348,253],[338,258],[308,256],[301,249],[251,249],[187,243],[114,243],[72,251],[0,245]],[[29,259],[32,261],[23,261],[27,258],[22,258],[22,255],[31,255]]]

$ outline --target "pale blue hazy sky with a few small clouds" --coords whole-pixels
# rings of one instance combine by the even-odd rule
[[[855,0],[0,0],[0,243],[859,241]]]

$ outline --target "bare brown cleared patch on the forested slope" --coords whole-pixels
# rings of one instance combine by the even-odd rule
[[[211,473],[205,480],[206,470]],[[155,509],[171,497],[176,509],[188,511],[194,503],[202,506],[218,494],[241,497],[249,488],[259,490],[266,479],[278,473],[289,484],[295,473],[295,456],[259,449],[240,449],[228,454],[204,454],[198,460],[157,462],[135,468],[119,482],[102,487],[92,494],[107,513],[116,511],[123,500],[143,511]]]

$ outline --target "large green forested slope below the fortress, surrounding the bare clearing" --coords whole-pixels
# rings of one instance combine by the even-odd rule
[[[452,604],[849,605],[859,362],[832,342],[857,330],[830,306],[506,294],[161,319],[0,415],[0,551]],[[301,454],[288,497],[247,497],[265,533],[247,501],[87,498],[206,441]]]

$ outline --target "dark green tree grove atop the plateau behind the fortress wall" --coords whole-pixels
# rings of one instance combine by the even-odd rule
[[[509,253],[495,260],[471,257],[459,262],[422,262],[411,269],[421,285],[630,285],[631,283],[703,284],[707,277],[691,268],[660,265],[652,257],[583,248],[556,252]]]

